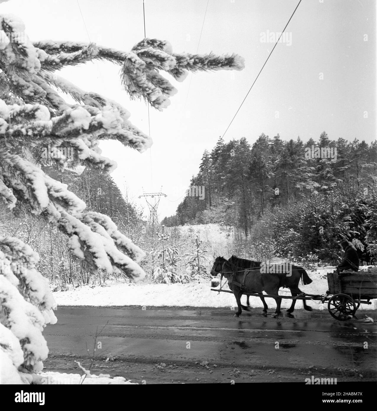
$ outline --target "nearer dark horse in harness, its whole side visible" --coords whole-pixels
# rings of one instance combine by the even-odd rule
[[[211,270],[211,275],[216,276],[219,273],[222,273],[228,279],[229,288],[236,297],[238,311],[234,314],[235,317],[241,314],[242,309],[248,310],[247,307],[241,305],[242,293],[258,293],[261,297],[263,291],[266,291],[270,295],[279,296],[279,288],[285,286],[285,276],[262,274],[259,268],[243,270],[224,259],[224,257],[217,257]],[[274,317],[277,317],[280,314],[282,299],[280,297],[274,297],[274,299],[276,301]]]

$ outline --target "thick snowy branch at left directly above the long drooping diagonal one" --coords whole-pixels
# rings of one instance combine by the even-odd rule
[[[95,98],[97,101],[106,102],[106,105],[102,109],[93,106],[75,106],[51,119],[49,110],[41,104],[7,106],[0,99],[0,150],[2,142],[7,148],[17,147],[25,141],[25,138],[28,139],[31,147],[38,147],[41,150],[48,144],[53,147],[60,146],[62,142],[74,145],[72,139],[83,138],[83,136],[87,148],[92,150],[97,145],[97,140],[104,139],[117,139],[139,152],[150,147],[152,144],[150,137],[127,120],[129,116],[127,110],[99,95]],[[93,166],[100,163],[99,157],[84,149],[82,145],[80,151],[87,152],[85,157],[79,157],[81,160],[90,162],[93,159]],[[37,160],[40,161],[40,156]],[[109,163],[105,160],[102,157],[102,162]]]

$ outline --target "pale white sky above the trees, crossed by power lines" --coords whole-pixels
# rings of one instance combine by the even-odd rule
[[[173,51],[238,53],[245,69],[189,74],[163,112],[150,108],[151,151],[139,154],[117,142],[100,145],[115,160],[112,173],[120,189],[145,206],[146,192],[167,194],[159,215],[174,214],[204,149],[211,150],[233,118],[273,44],[261,33],[281,32],[298,0],[146,0],[146,36],[168,40]],[[25,23],[32,41],[97,42],[128,51],[144,37],[142,0],[10,0],[0,13]],[[85,23],[84,23],[85,22]],[[88,32],[86,31],[88,30]],[[264,132],[283,140],[376,138],[375,0],[303,0],[286,30],[291,45],[276,46],[259,79],[224,136],[254,143]],[[368,41],[365,41],[368,35]],[[89,37],[89,38],[88,38]],[[134,125],[148,133],[144,102],[122,90],[118,66],[96,62],[62,70],[80,88],[118,101]],[[320,80],[323,73],[323,80]],[[165,75],[164,74],[164,75]],[[191,82],[190,82],[191,79]],[[276,118],[275,112],[279,112]],[[368,111],[368,118],[364,118]]]

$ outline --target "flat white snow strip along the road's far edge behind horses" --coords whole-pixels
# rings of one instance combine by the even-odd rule
[[[326,272],[328,268],[309,271],[313,282],[309,285],[299,285],[301,291],[309,294],[324,294],[327,290]],[[225,289],[229,289],[225,286]],[[279,294],[290,296],[288,289],[280,289]],[[155,306],[155,307],[234,307],[236,300],[231,293],[216,293],[211,291],[210,282],[189,284],[127,284],[109,281],[105,286],[82,286],[68,291],[53,293],[58,305],[89,305],[101,306]],[[243,296],[243,299],[246,299]],[[268,305],[276,307],[275,300],[268,298]],[[263,307],[258,297],[251,297],[252,307]],[[288,308],[291,300],[283,299],[282,308]],[[318,301],[309,301],[315,309],[323,309],[323,304]],[[296,304],[296,309],[302,309],[301,302]],[[375,305],[363,305],[359,309],[373,309]]]

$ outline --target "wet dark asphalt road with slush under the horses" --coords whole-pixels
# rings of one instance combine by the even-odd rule
[[[44,330],[45,371],[92,371],[139,383],[298,381],[307,376],[375,381],[376,315],[335,321],[327,310],[295,318],[264,317],[261,309],[233,317],[229,308],[58,307]],[[375,323],[364,323],[365,314]]]

